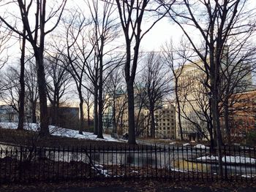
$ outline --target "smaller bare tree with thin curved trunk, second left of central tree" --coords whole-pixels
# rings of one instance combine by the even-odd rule
[[[83,88],[87,88],[83,83],[86,76],[86,69],[89,69],[87,74],[94,74],[95,68],[90,64],[93,61],[91,54],[94,50],[94,45],[88,39],[89,20],[83,15],[83,12],[75,10],[69,11],[67,18],[63,20],[64,23],[64,46],[56,45],[57,52],[64,55],[66,61],[64,64],[65,69],[72,75],[72,79],[75,82],[75,87],[78,91],[79,98],[79,110],[80,110],[80,125],[79,134],[83,134]],[[93,75],[92,75],[93,76]],[[91,76],[87,75],[88,78]],[[90,79],[90,81],[94,81]]]

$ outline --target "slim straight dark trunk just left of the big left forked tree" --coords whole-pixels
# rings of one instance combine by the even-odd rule
[[[26,34],[25,28],[23,34]],[[25,103],[25,47],[26,39],[22,38],[21,56],[20,56],[20,94],[19,94],[19,117],[18,117],[18,130],[23,130],[24,125],[24,103]]]

